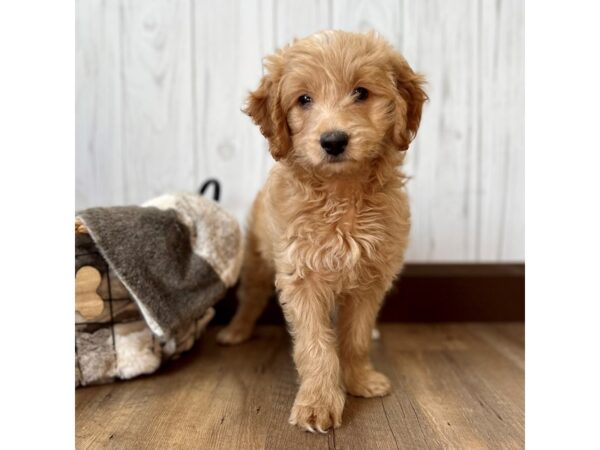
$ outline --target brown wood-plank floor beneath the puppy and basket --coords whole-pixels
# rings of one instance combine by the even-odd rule
[[[223,348],[215,328],[157,374],[76,394],[78,449],[523,448],[524,327],[383,324],[385,398],[348,397],[327,435],[287,423],[296,390],[283,327]]]

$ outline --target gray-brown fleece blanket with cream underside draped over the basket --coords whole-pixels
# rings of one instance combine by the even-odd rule
[[[158,337],[201,316],[239,274],[239,226],[200,195],[90,208],[78,217]]]

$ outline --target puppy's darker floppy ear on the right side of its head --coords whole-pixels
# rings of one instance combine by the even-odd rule
[[[408,150],[409,144],[417,135],[421,123],[423,103],[429,100],[423,90],[425,78],[415,73],[406,60],[395,53],[392,56],[392,70],[397,91],[396,117],[393,141],[399,150]]]

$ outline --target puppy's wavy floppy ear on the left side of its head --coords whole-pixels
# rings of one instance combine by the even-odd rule
[[[281,105],[281,59],[276,54],[265,60],[267,74],[260,80],[258,88],[250,92],[243,109],[269,141],[269,150],[275,160],[285,157],[292,146],[287,115]]]

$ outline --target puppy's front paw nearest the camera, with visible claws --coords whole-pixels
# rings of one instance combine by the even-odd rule
[[[312,399],[311,399],[312,397]],[[338,428],[342,424],[342,412],[346,395],[341,389],[335,389],[333,392],[324,392],[323,395],[314,394],[309,396],[300,392],[296,396],[292,414],[290,415],[290,424],[296,425],[303,430],[314,433],[327,433],[333,427]]]

